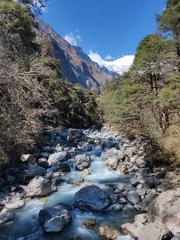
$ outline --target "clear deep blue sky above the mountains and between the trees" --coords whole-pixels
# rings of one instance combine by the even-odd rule
[[[42,18],[60,35],[103,58],[133,55],[156,30],[166,0],[49,0]]]

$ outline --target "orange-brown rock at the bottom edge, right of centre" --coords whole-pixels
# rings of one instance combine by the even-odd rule
[[[113,228],[110,224],[102,223],[99,226],[99,236],[105,240],[117,240],[120,235],[119,231]]]

